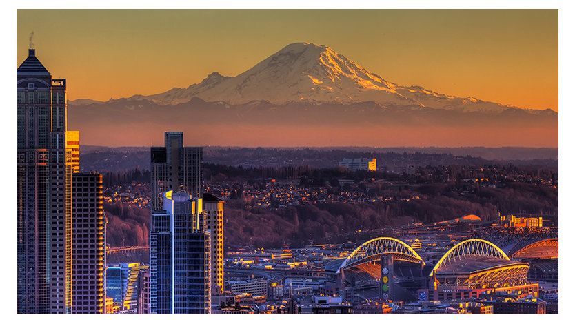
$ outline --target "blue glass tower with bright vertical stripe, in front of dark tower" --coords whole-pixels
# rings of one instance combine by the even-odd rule
[[[210,232],[201,214],[201,198],[172,191],[152,212],[150,314],[210,313]]]

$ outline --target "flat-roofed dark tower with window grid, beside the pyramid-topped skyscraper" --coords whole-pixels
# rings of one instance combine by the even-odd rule
[[[72,174],[72,314],[104,313],[101,174]]]

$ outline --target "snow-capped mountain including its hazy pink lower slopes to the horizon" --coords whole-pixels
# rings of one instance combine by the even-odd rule
[[[68,128],[82,131],[82,143],[109,146],[148,145],[166,130],[189,134],[192,145],[558,146],[553,110],[397,85],[313,43],[288,45],[236,77],[214,72],[161,94],[70,101]]]

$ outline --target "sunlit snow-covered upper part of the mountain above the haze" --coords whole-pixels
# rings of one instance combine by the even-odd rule
[[[225,101],[232,105],[268,101],[360,103],[374,101],[382,107],[412,106],[460,111],[501,112],[505,105],[472,97],[459,98],[386,81],[358,63],[324,45],[293,43],[236,77],[214,72],[201,83],[162,94],[134,96],[163,105],[185,103],[192,97]]]

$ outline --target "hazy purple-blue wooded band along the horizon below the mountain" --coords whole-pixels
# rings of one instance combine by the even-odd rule
[[[80,148],[83,171],[122,172],[150,168],[149,148]],[[244,168],[284,166],[336,168],[345,158],[376,158],[378,168],[394,165],[483,165],[511,163],[558,168],[556,148],[218,148],[205,147],[203,161]],[[265,177],[265,176],[264,176]]]

